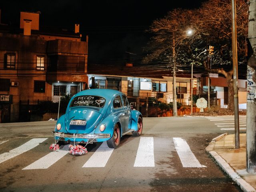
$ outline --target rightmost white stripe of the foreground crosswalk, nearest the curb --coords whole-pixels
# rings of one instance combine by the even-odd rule
[[[173,141],[183,167],[206,167],[197,160],[186,140],[173,138]]]

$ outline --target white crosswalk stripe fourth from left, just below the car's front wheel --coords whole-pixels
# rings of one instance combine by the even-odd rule
[[[154,139],[153,137],[141,137],[134,167],[154,167]]]

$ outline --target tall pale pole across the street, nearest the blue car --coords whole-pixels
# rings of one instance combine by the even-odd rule
[[[173,116],[176,117],[177,115],[177,93],[176,93],[176,52],[175,52],[175,35],[174,32],[173,39],[172,39],[172,56],[173,56]]]

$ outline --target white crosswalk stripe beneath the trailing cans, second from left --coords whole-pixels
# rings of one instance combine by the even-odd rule
[[[39,160],[35,161],[34,163],[30,164],[29,166],[26,166],[22,170],[28,170],[28,169],[47,169],[54,163],[56,163],[60,158],[64,157],[68,151],[64,150],[57,150],[50,152],[46,156],[40,158]]]

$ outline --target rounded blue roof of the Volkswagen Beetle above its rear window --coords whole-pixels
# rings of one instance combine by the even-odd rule
[[[94,95],[101,96],[107,100],[111,100],[116,94],[123,94],[120,91],[114,89],[88,89],[78,92],[75,96],[83,96],[83,95]]]

